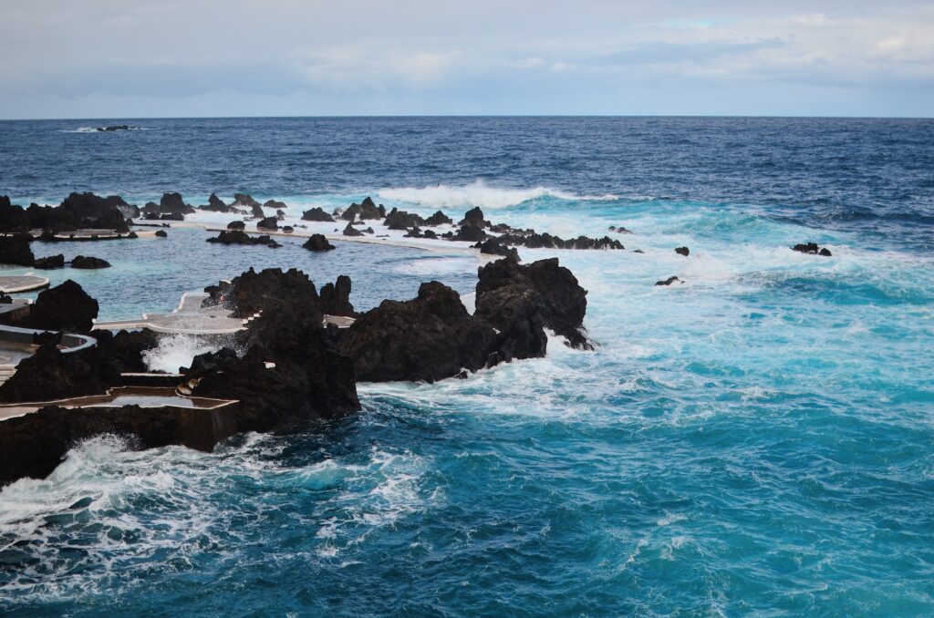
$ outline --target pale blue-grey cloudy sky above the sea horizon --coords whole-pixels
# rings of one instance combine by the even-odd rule
[[[932,113],[931,1],[0,1],[0,119]]]

